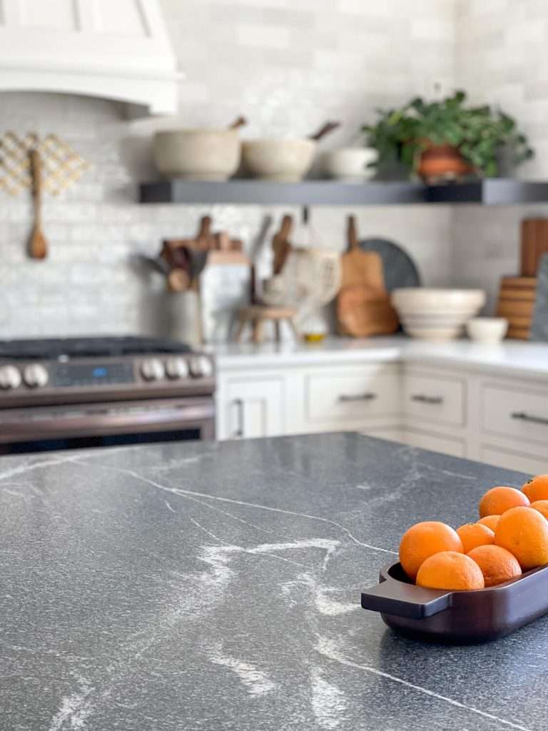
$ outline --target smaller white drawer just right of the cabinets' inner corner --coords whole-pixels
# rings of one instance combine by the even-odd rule
[[[403,401],[410,425],[414,420],[449,426],[465,423],[465,382],[420,373],[408,373],[403,382]]]

